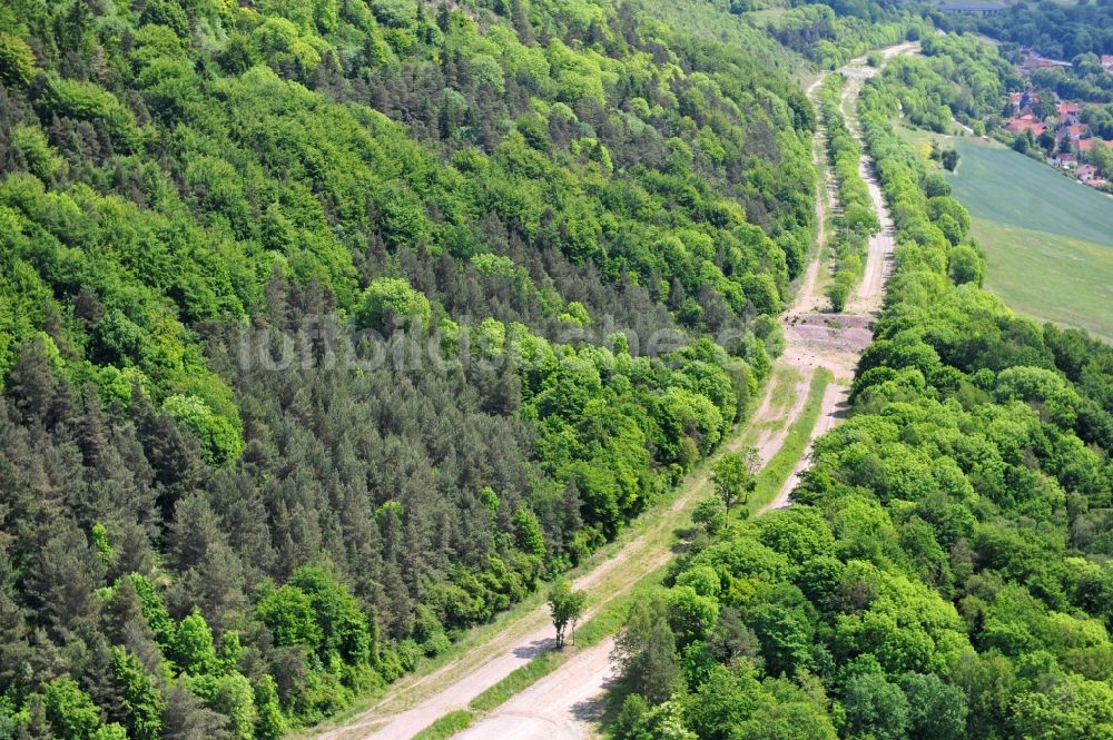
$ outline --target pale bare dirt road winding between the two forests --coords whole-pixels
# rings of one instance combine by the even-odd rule
[[[907,47],[902,45],[899,50]],[[857,60],[865,66],[865,60]],[[808,88],[814,92],[823,78]],[[817,132],[817,151],[824,151],[823,131]],[[880,193],[878,191],[878,197]],[[830,175],[825,177],[817,193],[816,209],[824,238],[824,220],[834,204],[834,184]],[[884,213],[884,204],[879,213]],[[823,241],[820,241],[823,244]],[[863,280],[863,287],[855,310],[857,315],[828,315],[821,312],[826,298],[821,284],[828,266],[821,259],[809,265],[800,280],[791,308],[782,316],[787,351],[778,359],[780,383],[789,384],[788,394],[794,397],[789,408],[777,407],[771,398],[775,383],[766,389],[766,397],[750,420],[750,425],[768,425],[756,445],[764,462],[780,448],[791,428],[792,421],[801,413],[812,374],[818,367],[826,367],[835,376],[824,395],[820,421],[812,432],[812,438],[830,428],[843,413],[849,381],[854,374],[857,356],[869,343],[871,312],[880,306],[881,290],[886,275],[885,249],[881,243],[870,243],[870,259],[875,249],[881,250],[876,267],[876,277]],[[892,247],[888,247],[890,250]],[[823,254],[823,250],[820,250]],[[868,270],[868,267],[867,267]],[[785,369],[791,372],[785,372]],[[785,395],[784,387],[777,389]],[[761,427],[765,430],[765,427]],[[736,435],[725,446],[736,451],[743,437]],[[797,474],[806,466],[801,461]],[[795,486],[796,474],[768,507],[785,506],[788,494]],[[690,475],[681,485],[681,494],[667,512],[661,512],[648,523],[634,525],[633,536],[593,570],[575,579],[574,588],[588,593],[589,615],[610,600],[621,596],[638,581],[653,572],[672,556],[672,532],[682,522],[682,512],[710,490],[708,466]],[[524,665],[538,653],[552,648],[552,628],[548,609],[539,606],[508,618],[505,629],[484,634],[457,660],[423,675],[401,679],[391,691],[371,710],[351,719],[344,726],[316,733],[317,740],[406,740],[447,712],[465,709],[480,693]],[[462,738],[584,738],[589,736],[588,720],[594,717],[598,697],[610,674],[611,640],[573,655],[556,671],[504,703],[483,721],[465,731]]]

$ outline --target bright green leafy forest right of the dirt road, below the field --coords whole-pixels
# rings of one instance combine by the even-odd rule
[[[791,509],[705,524],[633,609],[615,738],[1113,732],[1113,349],[979,287],[894,131],[906,72],[858,107],[898,246],[854,413]]]

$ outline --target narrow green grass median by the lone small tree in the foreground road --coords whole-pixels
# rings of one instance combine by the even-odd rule
[[[636,600],[644,599],[649,592],[660,586],[664,579],[664,570],[660,568],[639,581],[630,592],[623,596],[614,599],[599,610],[594,616],[584,622],[583,626],[575,631],[575,648],[583,650],[598,644],[605,638],[615,634],[626,622],[630,604]],[[490,712],[505,703],[514,694],[521,693],[544,677],[549,675],[563,665],[575,651],[545,652],[541,653],[525,665],[515,669],[506,678],[502,679],[493,687],[475,697],[469,704],[472,709],[481,712]]]

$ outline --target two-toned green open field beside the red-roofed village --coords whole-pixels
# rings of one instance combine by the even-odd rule
[[[955,147],[948,179],[974,217],[987,287],[1021,314],[1113,342],[1113,198],[1005,147]]]

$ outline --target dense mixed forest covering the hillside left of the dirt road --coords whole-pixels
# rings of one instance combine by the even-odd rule
[[[659,4],[0,4],[0,736],[279,737],[717,445],[815,116]]]

